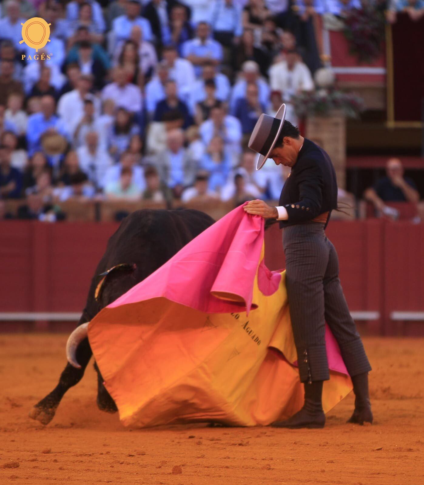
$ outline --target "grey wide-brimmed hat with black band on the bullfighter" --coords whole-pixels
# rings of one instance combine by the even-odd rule
[[[279,107],[275,118],[262,113],[256,122],[248,143],[249,148],[259,154],[256,162],[256,170],[262,168],[272,152],[274,145],[277,142],[278,135],[283,128],[285,117],[286,105],[283,103]]]

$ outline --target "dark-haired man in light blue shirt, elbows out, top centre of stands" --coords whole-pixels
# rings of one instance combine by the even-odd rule
[[[197,24],[196,37],[184,42],[181,49],[182,57],[195,66],[196,76],[200,76],[205,63],[217,65],[222,61],[221,44],[210,38],[210,28],[206,22]]]

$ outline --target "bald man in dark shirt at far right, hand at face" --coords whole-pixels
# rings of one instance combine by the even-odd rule
[[[388,207],[385,202],[411,202],[418,203],[420,194],[414,181],[404,177],[402,162],[397,158],[391,158],[386,164],[386,177],[380,178],[374,187],[364,192],[366,200],[374,204],[375,210],[394,219],[398,217],[398,211]]]

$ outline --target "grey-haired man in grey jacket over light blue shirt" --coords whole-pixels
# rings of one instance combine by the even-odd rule
[[[166,137],[167,148],[157,157],[156,167],[161,180],[179,197],[183,187],[191,185],[196,174],[196,163],[184,148],[184,133],[173,129]]]

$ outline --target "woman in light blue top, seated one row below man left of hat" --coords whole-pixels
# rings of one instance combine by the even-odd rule
[[[200,168],[209,172],[209,188],[212,191],[218,191],[224,187],[231,170],[231,158],[220,136],[213,136],[202,157]]]

